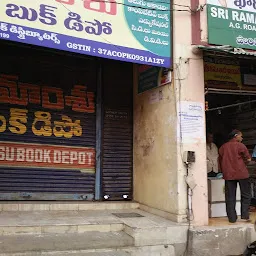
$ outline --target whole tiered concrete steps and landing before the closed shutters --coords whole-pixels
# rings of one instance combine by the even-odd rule
[[[186,224],[139,209],[0,212],[0,256],[174,256],[186,238]]]

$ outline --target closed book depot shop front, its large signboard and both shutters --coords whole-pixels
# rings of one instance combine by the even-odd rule
[[[115,1],[0,10],[0,200],[132,200],[134,63],[170,67],[169,24],[156,44]]]

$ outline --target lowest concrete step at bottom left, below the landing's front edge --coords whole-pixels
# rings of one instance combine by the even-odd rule
[[[6,253],[27,253],[25,255],[29,255],[28,253],[36,252],[81,250],[91,250],[93,252],[96,249],[123,248],[133,246],[133,244],[133,238],[122,231],[107,233],[86,232],[83,234],[12,235],[0,236],[0,255]]]

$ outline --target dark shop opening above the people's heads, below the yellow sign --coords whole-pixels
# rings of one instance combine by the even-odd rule
[[[214,134],[218,148],[228,140],[233,129],[243,132],[243,143],[252,153],[256,145],[256,92],[235,93],[209,90],[206,95],[207,130]]]

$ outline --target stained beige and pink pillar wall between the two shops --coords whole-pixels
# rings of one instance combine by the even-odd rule
[[[173,5],[173,83],[138,94],[134,69],[134,199],[142,209],[186,222],[182,155],[195,151],[196,163],[190,169],[196,182],[192,224],[200,226],[208,224],[205,129],[198,140],[181,143],[178,122],[181,101],[197,102],[204,108],[203,60],[192,52],[189,5],[188,0],[175,0]],[[205,126],[204,109],[200,125]]]

